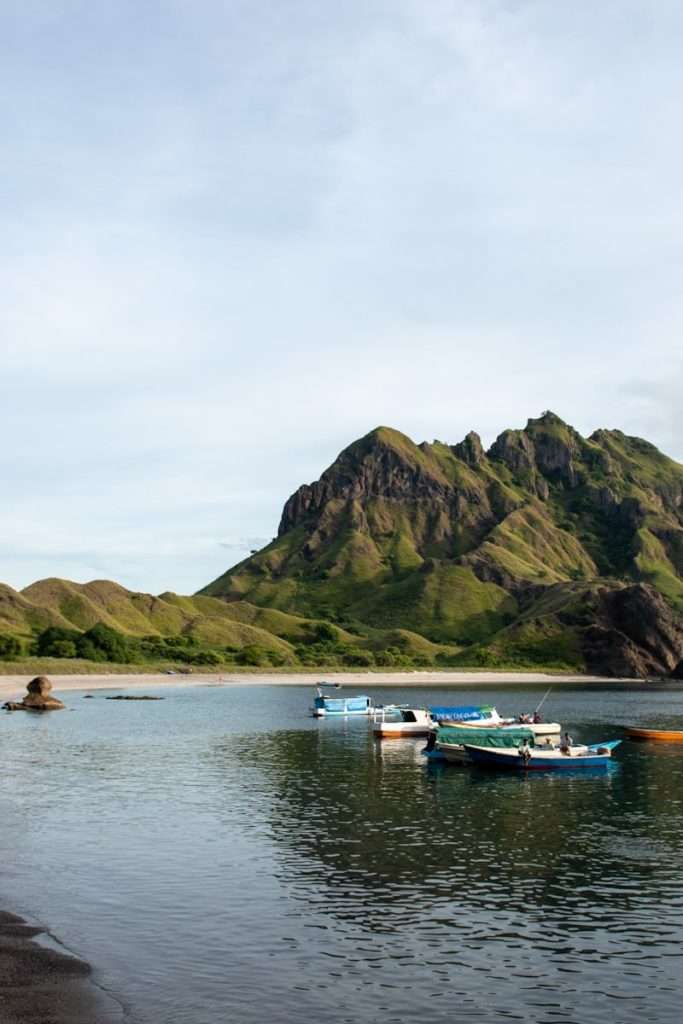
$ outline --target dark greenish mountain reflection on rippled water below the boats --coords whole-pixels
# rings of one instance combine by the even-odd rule
[[[484,906],[556,911],[575,879],[572,905],[590,913],[605,879],[628,870],[629,836],[680,856],[679,761],[625,751],[606,772],[516,775],[428,766],[422,745],[291,730],[226,738],[212,757],[256,772],[281,849],[314,862],[327,888],[362,887],[380,906],[397,888],[438,898],[445,886],[463,904],[476,891]],[[651,895],[657,884],[639,879]],[[343,900],[330,908],[347,913]]]

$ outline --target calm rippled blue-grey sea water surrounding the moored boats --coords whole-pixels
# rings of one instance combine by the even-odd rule
[[[543,690],[368,692],[514,714]],[[523,777],[315,721],[311,687],[156,692],[0,718],[0,906],[131,1021],[680,1020],[683,745]],[[683,687],[544,712],[577,739],[683,728]]]

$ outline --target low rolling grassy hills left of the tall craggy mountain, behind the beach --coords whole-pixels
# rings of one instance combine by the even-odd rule
[[[405,630],[351,633],[321,617],[248,601],[172,593],[155,597],[105,580],[41,580],[20,593],[0,585],[0,657],[3,638],[5,644],[14,638],[25,655],[47,643],[43,653],[68,659],[74,651],[61,647],[63,641],[88,638],[89,631],[101,627],[123,637],[126,659],[138,663],[362,666],[382,663],[388,649],[386,657],[401,665],[457,653],[452,645],[434,644]]]

